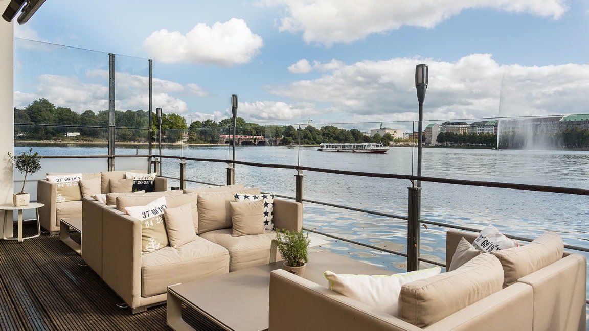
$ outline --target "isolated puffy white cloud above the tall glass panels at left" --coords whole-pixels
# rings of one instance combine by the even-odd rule
[[[264,45],[262,37],[254,34],[243,19],[228,22],[197,24],[186,35],[179,31],[161,29],[143,42],[150,57],[166,62],[189,62],[229,67],[252,61]]]

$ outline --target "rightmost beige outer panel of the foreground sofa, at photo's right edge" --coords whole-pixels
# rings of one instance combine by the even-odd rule
[[[534,329],[585,330],[587,258],[569,254],[518,279],[534,289]]]

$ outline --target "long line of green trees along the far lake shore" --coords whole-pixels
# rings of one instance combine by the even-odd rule
[[[149,127],[149,112],[144,110],[115,111],[115,140],[148,141],[151,137],[157,141],[157,118],[152,114]],[[35,100],[22,109],[14,108],[15,140],[74,140],[107,141],[110,117],[108,110],[95,113],[86,110],[79,114],[67,107],[55,107],[45,98]],[[187,143],[224,143],[220,134],[233,134],[233,118],[224,118],[219,122],[208,119],[193,121],[187,125],[186,119],[178,114],[162,115],[162,141],[176,143],[186,138]],[[250,123],[241,117],[236,118],[237,135],[263,136],[276,144],[317,145],[320,143],[378,143],[388,145],[393,141],[391,134],[376,134],[368,137],[358,129],[343,129],[333,125],[321,128],[307,125],[295,128],[293,125],[260,125]],[[71,137],[71,133],[79,133]]]

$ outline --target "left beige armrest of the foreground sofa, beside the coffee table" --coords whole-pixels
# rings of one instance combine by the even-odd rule
[[[282,269],[270,273],[269,330],[404,330],[421,328]]]

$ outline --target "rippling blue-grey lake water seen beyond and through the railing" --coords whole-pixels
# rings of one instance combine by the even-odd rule
[[[15,152],[25,147],[15,147]],[[42,155],[105,155],[106,147],[35,147]],[[117,148],[115,153],[147,155],[147,150]],[[157,153],[154,149],[154,153]],[[227,146],[163,148],[163,155],[227,160]],[[389,174],[416,174],[416,149],[391,148],[387,154],[319,152],[315,147],[236,147],[236,160],[289,164],[337,170]],[[187,161],[187,178],[206,183],[226,182],[225,163]],[[177,160],[164,159],[163,173],[179,177]],[[589,152],[526,151],[459,148],[424,148],[422,175],[504,183],[589,188]],[[305,198],[325,203],[407,215],[408,180],[305,174]],[[236,166],[236,183],[263,191],[294,196],[296,171]],[[170,180],[170,186],[179,186]],[[188,187],[197,186],[188,184]],[[389,250],[405,252],[406,221],[339,208],[305,203],[305,226]],[[570,194],[517,191],[502,188],[422,183],[422,219],[482,229],[494,224],[504,233],[534,238],[546,230],[557,231],[565,243],[587,247],[589,197]],[[445,231],[428,226],[421,230],[421,256],[445,261]],[[405,269],[403,257],[339,241],[326,246],[389,269]]]

